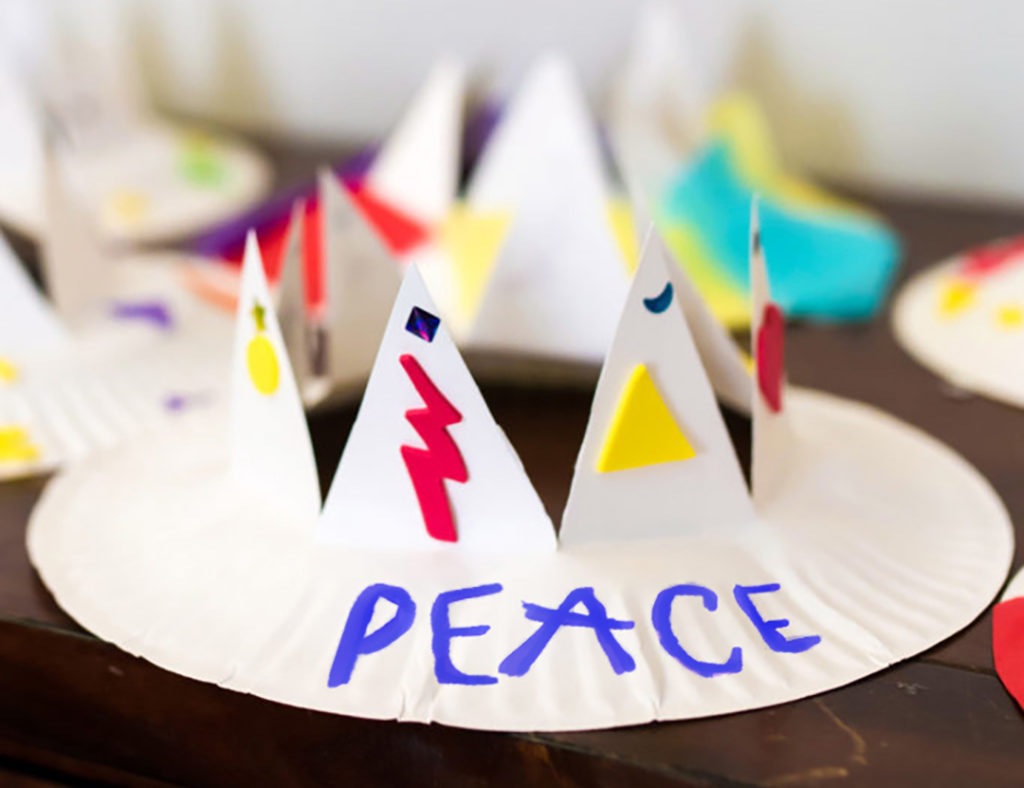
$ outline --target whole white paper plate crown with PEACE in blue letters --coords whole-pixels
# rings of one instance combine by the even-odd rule
[[[684,315],[692,291],[649,239],[556,539],[416,267],[321,511],[251,238],[226,439],[197,414],[65,474],[33,515],[33,562],[133,653],[360,716],[600,728],[853,681],[972,620],[1012,531],[947,449],[786,389],[756,211],[751,267],[753,381]],[[752,397],[753,495],[706,366]]]

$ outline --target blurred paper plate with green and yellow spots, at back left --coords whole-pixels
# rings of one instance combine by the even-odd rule
[[[263,156],[241,140],[161,123],[76,164],[103,235],[117,242],[194,234],[260,200],[271,180]],[[22,172],[0,188],[0,220],[39,237],[42,172]]]

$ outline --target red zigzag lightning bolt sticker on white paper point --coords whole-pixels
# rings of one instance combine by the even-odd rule
[[[407,410],[406,419],[420,434],[426,448],[402,446],[401,458],[406,461],[409,478],[420,501],[427,533],[441,541],[458,541],[444,480],[465,482],[469,479],[459,447],[447,433],[450,425],[462,421],[462,413],[437,390],[412,355],[406,353],[398,360],[425,405]]]

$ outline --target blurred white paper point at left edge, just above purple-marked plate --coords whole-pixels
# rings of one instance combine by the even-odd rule
[[[0,365],[68,342],[63,324],[0,234]],[[0,383],[12,376],[0,370]]]

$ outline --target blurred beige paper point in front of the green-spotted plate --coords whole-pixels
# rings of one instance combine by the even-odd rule
[[[76,174],[63,149],[47,151],[42,263],[46,289],[65,320],[80,318],[110,296],[113,275]]]

